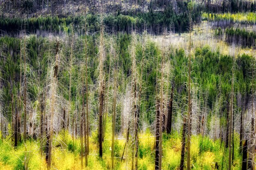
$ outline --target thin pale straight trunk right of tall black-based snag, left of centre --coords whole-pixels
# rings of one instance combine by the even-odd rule
[[[117,80],[116,80],[116,56],[115,56],[114,96],[113,96],[114,98],[113,98],[113,109],[112,109],[113,110],[113,116],[112,116],[112,145],[111,145],[112,169],[114,169],[114,148],[115,148],[115,124],[116,124],[116,101],[117,101],[117,82],[116,81]]]

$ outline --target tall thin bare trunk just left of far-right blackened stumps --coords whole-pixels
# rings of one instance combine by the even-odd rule
[[[233,59],[233,65],[232,65],[232,81],[231,81],[231,105],[230,105],[230,114],[229,114],[229,167],[228,169],[231,170],[231,164],[232,164],[232,144],[231,144],[231,131],[232,131],[232,122],[233,122],[233,100],[234,100],[234,59]]]

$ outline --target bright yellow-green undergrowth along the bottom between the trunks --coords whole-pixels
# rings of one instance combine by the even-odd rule
[[[97,133],[92,133],[90,137],[90,154],[88,157],[88,167],[85,169],[92,170],[108,170],[111,169],[111,134],[106,134],[103,142],[103,157],[98,157]],[[11,138],[0,141],[0,167],[4,170],[20,170],[23,169],[25,144],[21,143],[16,149],[11,146]],[[143,139],[143,140],[142,140]],[[241,156],[239,154],[239,136],[234,135],[234,161],[233,169],[241,168]],[[121,157],[124,151],[125,139],[116,139],[115,141],[115,169],[127,169],[130,167],[131,158],[131,142],[128,144],[128,156],[124,152],[124,159],[121,162]],[[149,130],[139,134],[139,153],[138,153],[138,169],[147,170],[154,169],[154,142],[155,137]],[[215,169],[215,164],[218,163],[220,169],[227,169],[228,164],[228,149],[225,148],[225,142],[220,145],[220,140],[213,141],[209,137],[201,135],[193,136],[191,139],[191,166],[200,170]],[[54,139],[53,151],[53,169],[58,170],[80,170],[81,168],[81,147],[80,138],[73,138],[72,135],[62,131]],[[29,169],[43,170],[46,169],[45,154],[41,155],[40,141],[28,140],[26,143],[27,154],[29,158]],[[221,147],[220,147],[221,146]],[[163,160],[162,168],[164,170],[175,170],[180,166],[181,153],[181,135],[174,133],[172,135],[163,135]],[[223,157],[224,155],[224,157]],[[84,165],[83,158],[83,165]],[[185,155],[186,163],[186,155]]]

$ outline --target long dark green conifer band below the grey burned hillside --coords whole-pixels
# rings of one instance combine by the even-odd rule
[[[199,8],[199,7],[198,7]],[[126,13],[128,15],[106,15],[103,17],[103,23],[107,27],[107,32],[124,32],[131,33],[136,30],[142,33],[143,30],[148,30],[151,34],[161,34],[162,28],[168,28],[168,31],[184,32],[189,28],[189,15],[184,9],[184,13],[175,13],[172,8],[166,9],[164,12],[153,12],[152,10],[147,13]],[[55,34],[63,33],[64,31],[70,33],[70,27],[74,31],[81,31],[83,27],[83,20],[85,16],[74,16],[67,18],[55,17],[37,17],[22,19],[18,17],[1,17],[0,30],[2,34],[18,34],[20,30],[24,29],[31,34],[43,34],[44,32],[52,32]],[[201,21],[201,13],[198,10],[192,15],[194,22]],[[86,15],[87,27],[94,33],[100,29],[100,16],[89,14]]]

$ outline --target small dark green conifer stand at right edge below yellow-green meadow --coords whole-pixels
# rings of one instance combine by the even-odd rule
[[[252,46],[255,48],[256,33],[253,31],[246,31],[244,28],[226,28],[225,41],[229,44],[238,44],[243,47]]]

